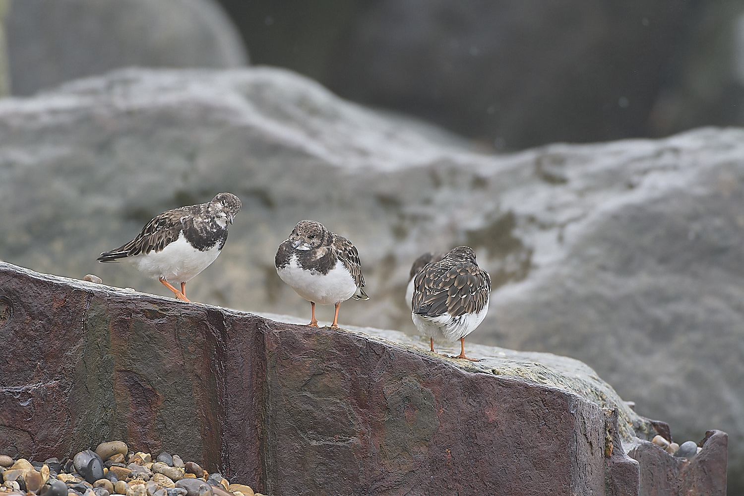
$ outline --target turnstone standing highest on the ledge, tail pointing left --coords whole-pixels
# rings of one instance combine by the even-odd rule
[[[240,199],[219,193],[209,203],[168,210],[147,222],[132,241],[106,251],[99,262],[124,258],[139,271],[157,278],[182,301],[186,283],[214,262],[228,239],[228,222],[240,212]],[[179,291],[168,280],[181,283]]]

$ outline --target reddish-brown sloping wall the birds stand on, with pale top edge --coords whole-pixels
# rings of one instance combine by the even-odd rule
[[[374,333],[0,263],[0,452],[43,460],[118,438],[274,496],[646,494],[645,458],[613,471],[608,445],[627,465],[623,444],[656,431],[586,365],[482,346],[462,363]],[[673,461],[649,467],[722,496],[725,441],[711,431],[693,463],[659,450]]]

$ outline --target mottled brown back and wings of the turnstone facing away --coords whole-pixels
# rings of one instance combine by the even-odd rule
[[[431,263],[414,280],[413,312],[423,317],[453,317],[480,312],[488,301],[491,280],[478,265]]]

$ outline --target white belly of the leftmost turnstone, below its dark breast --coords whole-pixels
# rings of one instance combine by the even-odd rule
[[[162,277],[171,283],[186,283],[217,259],[218,245],[207,251],[199,251],[189,245],[181,233],[179,239],[170,242],[161,251],[150,251],[149,254],[139,254],[127,260],[154,279]]]

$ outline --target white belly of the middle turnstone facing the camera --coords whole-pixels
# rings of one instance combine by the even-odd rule
[[[321,274],[303,270],[297,262],[297,255],[292,255],[287,265],[277,269],[277,274],[305,300],[321,305],[348,300],[356,292],[354,278],[341,260],[328,274]]]

